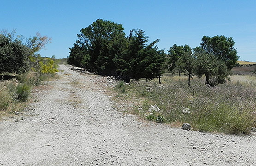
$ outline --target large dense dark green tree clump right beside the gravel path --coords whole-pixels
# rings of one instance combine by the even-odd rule
[[[163,72],[165,54],[155,45],[159,40],[147,45],[149,37],[141,29],[133,29],[125,37],[121,24],[98,19],[82,28],[77,37],[70,48],[69,64],[125,82],[130,82],[130,78],[150,80]]]

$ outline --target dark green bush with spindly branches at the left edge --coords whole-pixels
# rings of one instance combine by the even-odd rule
[[[1,31],[0,34],[0,73],[23,73],[30,69],[31,64],[36,61],[35,54],[50,42],[47,36],[36,33],[35,37],[23,42],[21,35],[15,36],[15,31],[7,33]]]

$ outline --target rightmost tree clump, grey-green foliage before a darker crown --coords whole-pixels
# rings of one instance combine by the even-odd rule
[[[231,74],[231,69],[238,60],[234,40],[225,36],[202,37],[200,47],[196,47],[195,72],[198,77],[204,74],[205,84],[215,86],[225,83],[225,78]]]

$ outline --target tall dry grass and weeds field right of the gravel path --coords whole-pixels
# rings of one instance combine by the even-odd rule
[[[136,103],[136,111],[142,118],[167,122],[179,126],[191,123],[194,130],[238,134],[250,133],[255,127],[256,89],[252,84],[230,83],[214,88],[194,78],[191,86],[184,77],[165,76],[162,84],[139,82],[118,86],[117,100]],[[139,105],[139,106],[138,106]],[[159,112],[149,112],[150,105],[158,105]],[[184,113],[184,110],[190,113]]]

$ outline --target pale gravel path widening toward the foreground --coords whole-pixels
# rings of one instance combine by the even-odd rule
[[[256,166],[256,135],[184,131],[113,108],[95,76],[60,66],[18,122],[0,122],[0,166]]]

